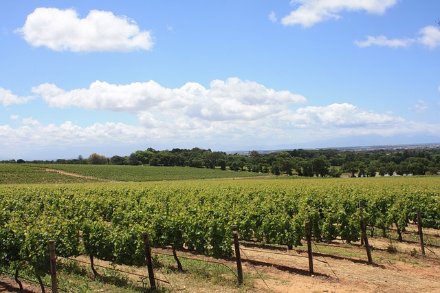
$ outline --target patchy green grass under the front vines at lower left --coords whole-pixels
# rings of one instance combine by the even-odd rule
[[[177,271],[173,256],[154,254],[155,278],[157,290],[155,292],[177,292],[189,289],[189,292],[252,292],[255,276],[245,273],[245,283],[237,284],[234,273],[218,263],[208,263],[197,259],[181,257],[183,272]],[[126,274],[114,270],[111,263],[102,263],[109,268],[97,267],[99,276],[94,276],[90,266],[78,261],[59,259],[57,263],[58,287],[67,292],[148,292],[149,282],[146,268],[118,266],[118,270],[144,275],[145,278],[134,274]],[[235,270],[235,268],[231,268]],[[10,269],[12,272],[12,269]],[[21,277],[35,279],[31,272],[23,270]],[[11,277],[11,276],[9,276]],[[23,280],[22,280],[23,281]],[[50,275],[45,276],[43,283],[50,284]]]

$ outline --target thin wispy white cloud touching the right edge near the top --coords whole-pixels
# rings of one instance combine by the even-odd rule
[[[414,43],[425,45],[429,49],[435,49],[440,45],[440,29],[432,25],[422,28],[418,38],[388,39],[386,36],[367,36],[365,41],[355,41],[358,47],[371,47],[373,45],[382,47],[409,47]]]

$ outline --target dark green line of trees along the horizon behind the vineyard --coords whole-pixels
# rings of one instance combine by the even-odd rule
[[[17,160],[17,163],[20,162],[25,161]],[[437,175],[440,172],[440,149],[381,149],[374,151],[294,149],[274,153],[249,151],[243,155],[239,153],[227,154],[198,147],[163,151],[157,151],[150,147],[144,151],[135,151],[128,156],[113,155],[113,157],[107,158],[104,155],[93,153],[87,159],[80,155],[74,160],[28,161],[28,163],[188,166],[307,177],[340,177],[343,173],[347,173],[350,177]]]

